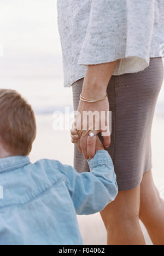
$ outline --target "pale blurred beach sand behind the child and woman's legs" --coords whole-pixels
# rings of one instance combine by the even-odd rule
[[[30,155],[31,161],[40,158],[57,159],[63,164],[73,165],[73,145],[70,142],[69,131],[54,131],[52,129],[52,115],[37,115],[37,139]],[[153,174],[157,188],[164,196],[164,118],[155,115],[152,131]],[[78,216],[78,222],[84,245],[106,245],[107,234],[99,215]],[[142,225],[147,245],[151,240]]]

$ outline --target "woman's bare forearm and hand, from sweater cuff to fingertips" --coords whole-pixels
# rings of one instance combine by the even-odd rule
[[[90,100],[106,97],[107,86],[117,63],[118,61],[114,61],[88,66],[83,84],[83,97]],[[86,159],[91,159],[95,155],[96,136],[99,132],[102,132],[104,146],[108,148],[110,145],[108,99],[93,103],[80,100],[75,125],[80,137],[77,146]],[[95,136],[90,137],[90,132]]]

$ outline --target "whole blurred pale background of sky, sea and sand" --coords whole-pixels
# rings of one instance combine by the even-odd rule
[[[34,108],[38,133],[31,161],[49,158],[73,165],[69,129],[52,129],[52,114],[56,110],[65,114],[65,107],[73,109],[72,89],[63,88],[56,0],[1,0],[0,87],[16,89]],[[152,132],[153,174],[162,197],[163,137],[164,87],[157,102]],[[106,230],[99,214],[80,216],[78,220],[85,245],[106,244]],[[144,226],[143,231],[147,244],[151,245]]]

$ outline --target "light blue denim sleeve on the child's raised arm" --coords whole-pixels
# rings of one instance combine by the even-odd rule
[[[77,214],[102,211],[114,201],[118,185],[112,159],[106,150],[99,150],[89,161],[91,172],[78,173],[71,166],[60,165]]]

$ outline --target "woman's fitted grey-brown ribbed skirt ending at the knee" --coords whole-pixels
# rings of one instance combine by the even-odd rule
[[[80,79],[73,85],[74,109],[77,110],[83,87]],[[113,76],[108,85],[112,111],[111,144],[107,149],[113,159],[119,190],[138,187],[143,173],[151,170],[151,126],[163,82],[161,58],[150,60],[142,72]],[[74,167],[78,172],[89,166],[77,146]]]

